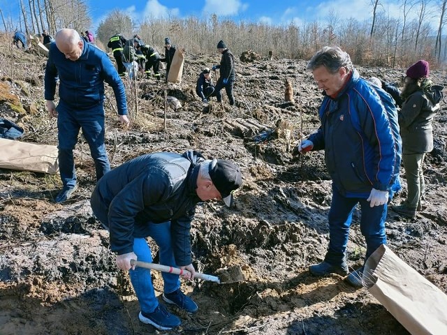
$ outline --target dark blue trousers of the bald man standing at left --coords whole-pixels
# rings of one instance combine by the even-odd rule
[[[91,157],[95,162],[96,180],[110,171],[110,163],[104,144],[104,112],[103,107],[96,110],[77,112],[57,107],[57,129],[59,140],[59,172],[64,188],[76,185],[75,160],[73,149],[78,142],[78,134],[82,128],[85,140],[90,147]]]

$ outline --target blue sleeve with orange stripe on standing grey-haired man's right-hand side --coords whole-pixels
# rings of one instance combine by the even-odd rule
[[[379,191],[389,191],[395,165],[400,162],[397,152],[397,138],[391,128],[386,107],[373,91],[367,98],[359,98],[357,106],[360,128],[369,147],[374,151],[372,162],[372,187]]]

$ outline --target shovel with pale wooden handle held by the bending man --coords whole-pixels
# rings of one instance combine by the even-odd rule
[[[188,270],[182,270],[177,267],[168,267],[167,265],[141,262],[139,260],[131,260],[131,265],[135,265],[135,267],[144,267],[145,269],[168,272],[169,274],[189,274]],[[203,279],[204,281],[214,281],[214,283],[218,284],[237,283],[238,281],[245,280],[242,269],[238,265],[223,270],[221,278],[210,274],[201,274],[200,272],[196,272],[194,278]]]

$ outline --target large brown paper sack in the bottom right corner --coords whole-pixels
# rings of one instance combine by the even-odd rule
[[[363,284],[411,334],[447,334],[447,295],[387,246],[367,259]]]

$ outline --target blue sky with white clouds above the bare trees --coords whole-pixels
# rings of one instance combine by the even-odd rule
[[[314,20],[325,21],[333,13],[346,20],[370,20],[372,8],[370,0],[86,0],[93,18],[90,29],[96,29],[98,23],[114,9],[126,11],[141,22],[152,13],[154,17],[201,17],[216,13],[219,17],[230,20],[263,22],[268,24],[288,24]],[[391,17],[400,17],[398,0],[381,0],[383,7]],[[434,3],[437,1],[434,1]],[[17,15],[18,0],[0,0],[3,16]],[[413,10],[413,13],[416,10]],[[439,9],[437,12],[439,14]],[[432,26],[437,28],[439,19],[432,19]]]

